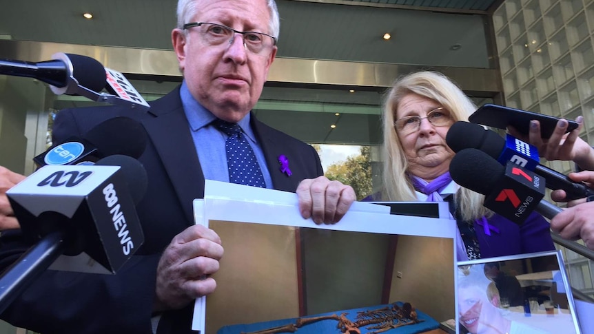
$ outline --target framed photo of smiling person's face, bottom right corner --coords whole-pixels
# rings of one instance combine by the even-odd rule
[[[579,334],[560,251],[458,262],[458,331]]]

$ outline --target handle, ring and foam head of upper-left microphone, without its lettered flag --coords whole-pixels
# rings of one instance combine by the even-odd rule
[[[54,54],[50,61],[32,63],[11,59],[0,60],[0,74],[34,78],[52,86],[54,93],[78,94],[75,87],[82,86],[93,92],[105,88],[105,68],[99,61],[79,54]],[[56,93],[58,94],[58,93]]]

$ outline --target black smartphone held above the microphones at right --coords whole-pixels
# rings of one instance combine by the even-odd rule
[[[511,125],[522,134],[529,133],[530,121],[533,119],[540,122],[540,136],[550,138],[560,118],[491,103],[482,105],[469,117],[469,121],[472,123],[497,127],[498,129],[505,129]],[[577,122],[567,121],[569,122],[567,132],[577,128]]]

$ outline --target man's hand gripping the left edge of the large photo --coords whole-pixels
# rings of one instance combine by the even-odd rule
[[[216,282],[208,275],[221,257],[221,238],[212,229],[194,225],[175,236],[158,262],[153,311],[181,309],[212,293]]]

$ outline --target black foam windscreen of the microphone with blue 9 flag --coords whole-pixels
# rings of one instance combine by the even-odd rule
[[[446,143],[453,152],[462,149],[480,149],[492,158],[498,159],[505,147],[505,139],[481,125],[458,121],[446,134]]]

